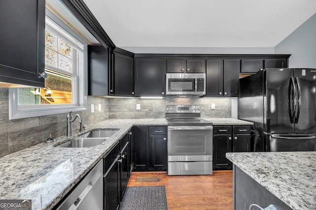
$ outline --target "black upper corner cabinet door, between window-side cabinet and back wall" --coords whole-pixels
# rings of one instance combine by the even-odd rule
[[[114,94],[134,95],[134,59],[119,53],[114,58]]]

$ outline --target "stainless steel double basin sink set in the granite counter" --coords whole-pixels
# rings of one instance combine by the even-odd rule
[[[102,144],[104,141],[109,139],[115,134],[118,128],[98,129],[92,130],[88,133],[82,134],[81,136],[65,142],[57,147],[59,148],[86,148],[94,147]]]

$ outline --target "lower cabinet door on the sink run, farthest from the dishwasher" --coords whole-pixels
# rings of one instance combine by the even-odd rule
[[[120,158],[122,160],[120,164],[120,200],[122,200],[128,178],[129,178],[129,165],[128,165],[128,156],[129,156],[129,144],[127,143],[124,149],[121,151]]]

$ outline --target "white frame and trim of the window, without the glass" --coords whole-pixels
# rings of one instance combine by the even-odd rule
[[[42,105],[18,105],[18,89],[9,88],[9,120],[39,117],[46,115],[55,115],[68,113],[69,111],[79,112],[87,110],[87,43],[77,33],[68,28],[63,22],[55,17],[49,10],[46,9],[46,16],[55,22],[63,30],[71,34],[73,37],[83,43],[84,65],[78,65],[78,76],[73,77],[73,103],[72,104],[42,104]],[[67,37],[66,37],[67,38]],[[80,60],[78,60],[80,62]],[[54,70],[52,66],[46,65],[45,67]],[[60,71],[60,70],[58,70]],[[65,72],[67,73],[67,72]],[[82,85],[83,84],[83,85]],[[76,103],[75,103],[76,101]]]

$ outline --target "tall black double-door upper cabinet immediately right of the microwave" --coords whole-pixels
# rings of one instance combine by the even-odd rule
[[[206,60],[206,96],[239,95],[238,59]]]

